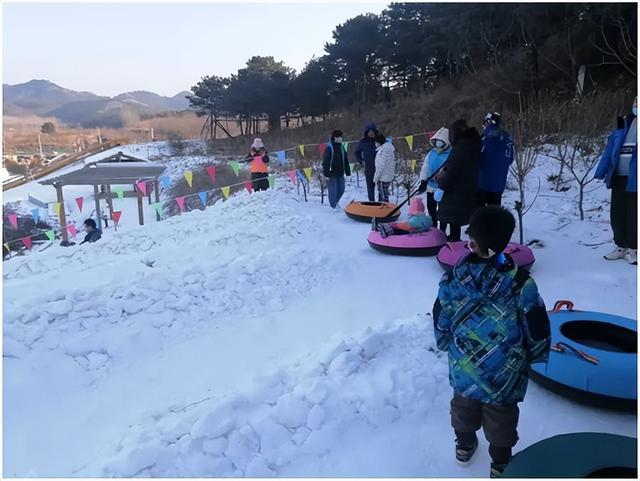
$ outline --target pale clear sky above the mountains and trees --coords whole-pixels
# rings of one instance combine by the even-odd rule
[[[300,70],[336,25],[385,3],[93,3],[3,6],[3,83],[175,95],[253,55]]]

